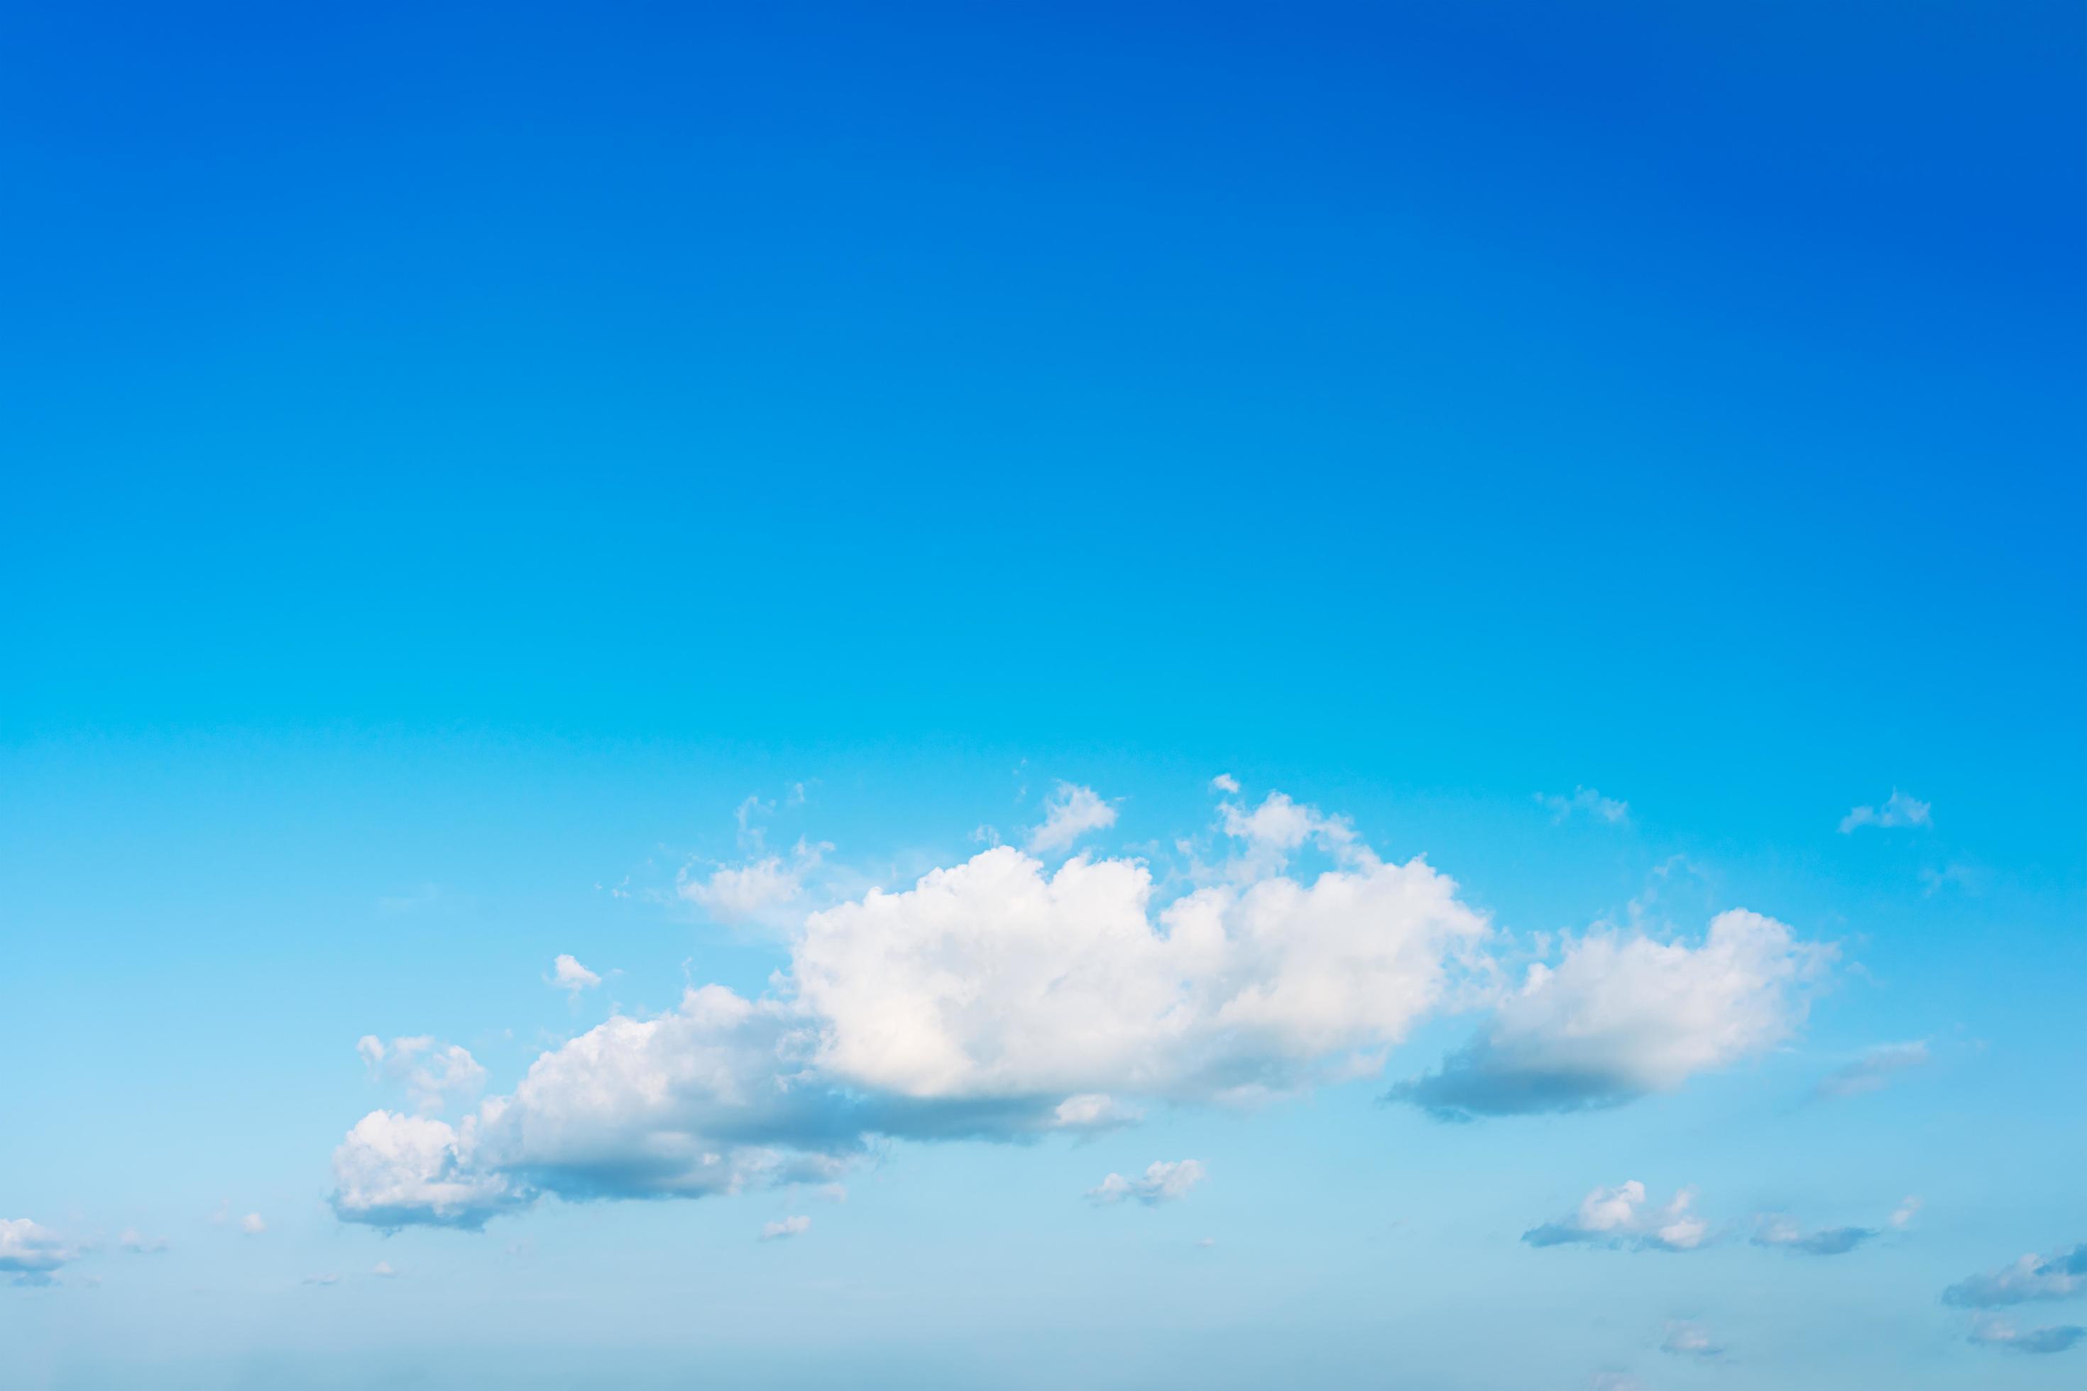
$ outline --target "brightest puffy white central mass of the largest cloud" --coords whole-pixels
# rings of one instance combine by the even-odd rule
[[[1152,874],[985,851],[814,913],[795,951],[818,1068],[914,1099],[1213,1097],[1396,1043],[1486,920],[1425,861],[1363,855],[1152,911]]]

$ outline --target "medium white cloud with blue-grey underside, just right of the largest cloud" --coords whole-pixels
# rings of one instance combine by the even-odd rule
[[[1718,913],[1699,947],[1590,932],[1530,966],[1486,1030],[1392,1091],[1444,1120],[1617,1105],[1764,1053],[1805,1016],[1832,961],[1786,924]]]

